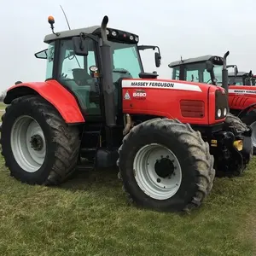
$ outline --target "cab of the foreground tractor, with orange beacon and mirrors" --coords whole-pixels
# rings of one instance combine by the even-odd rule
[[[139,37],[136,34],[108,28],[106,30],[108,46],[102,46],[101,26],[54,32],[54,23],[54,18],[49,16],[53,33],[44,38],[48,49],[39,51],[35,56],[47,61],[45,79],[54,79],[72,92],[87,120],[88,117],[90,119],[90,117],[100,117],[104,114],[101,98],[103,91],[100,84],[108,84],[108,81],[102,80],[103,77],[108,77],[103,75],[106,66],[109,68],[109,73],[112,73],[110,83],[113,83],[116,108],[119,103],[119,90],[121,90],[119,79],[148,78],[148,74],[143,71],[139,50],[157,47],[137,46]],[[107,57],[109,60],[109,56],[108,53],[106,55],[102,52],[102,49],[108,47],[111,62],[103,63],[102,59]],[[160,50],[155,52],[155,65],[160,67]],[[156,73],[149,73],[150,78],[157,76]],[[109,84],[107,86],[109,87]]]

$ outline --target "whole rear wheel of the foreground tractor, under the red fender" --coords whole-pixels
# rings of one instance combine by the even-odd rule
[[[1,145],[11,176],[23,183],[56,185],[79,157],[79,131],[40,96],[15,99],[2,117]]]

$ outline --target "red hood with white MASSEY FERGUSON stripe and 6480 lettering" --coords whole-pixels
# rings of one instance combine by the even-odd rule
[[[217,107],[228,108],[225,90],[215,85],[166,79],[123,79],[121,85],[123,113],[214,125],[224,120],[216,118]]]

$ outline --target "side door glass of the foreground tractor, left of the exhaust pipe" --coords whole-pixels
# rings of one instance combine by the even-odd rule
[[[90,38],[86,38],[86,44],[89,54],[80,56],[75,55],[71,39],[61,40],[58,79],[61,84],[73,91],[84,115],[99,115],[99,91],[89,72],[89,67],[96,65],[95,44]]]

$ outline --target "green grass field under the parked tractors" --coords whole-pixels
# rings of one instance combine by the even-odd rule
[[[190,215],[129,206],[116,170],[46,188],[1,168],[0,255],[255,255],[256,158],[243,177],[217,178]]]

